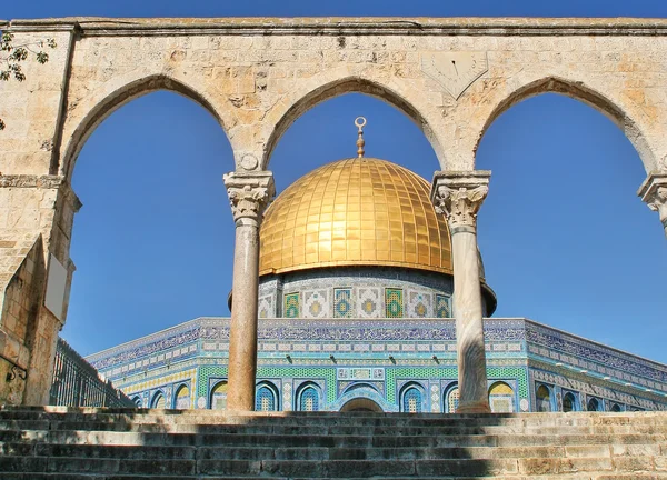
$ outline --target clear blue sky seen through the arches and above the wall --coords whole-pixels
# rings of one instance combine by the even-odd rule
[[[664,1],[12,2],[2,18],[63,16],[665,17]],[[356,151],[427,179],[438,163],[419,129],[379,100],[348,94],[305,113],[272,158],[278,190]],[[200,316],[228,316],[233,223],[222,173],[231,150],[215,119],[169,92],[139,98],[90,137],[73,186],[77,264],[62,336],[82,354]],[[502,114],[479,148],[492,170],[479,216],[497,317],[528,317],[667,362],[667,249],[636,197],[646,174],[630,142],[596,110],[545,94]]]

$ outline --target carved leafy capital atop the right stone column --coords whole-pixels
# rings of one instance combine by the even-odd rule
[[[436,211],[447,217],[451,233],[470,231],[489,191],[489,170],[437,171],[431,186]]]

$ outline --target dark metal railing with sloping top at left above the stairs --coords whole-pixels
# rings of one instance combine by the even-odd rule
[[[64,340],[58,339],[49,404],[67,407],[137,407]]]

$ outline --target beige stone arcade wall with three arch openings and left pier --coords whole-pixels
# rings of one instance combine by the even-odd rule
[[[36,329],[44,336],[29,332],[41,340],[26,402],[46,398],[67,313],[70,234],[80,207],[69,188],[77,156],[115,109],[150,91],[177,91],[210,111],[229,138],[238,173],[266,170],[302,112],[352,91],[411,118],[442,170],[474,170],[489,124],[542,92],[597,108],[626,133],[647,172],[667,170],[667,20],[70,18],[0,28],[17,44],[53,38],[59,46],[47,64],[26,64],[24,82],[0,82],[3,241],[41,234],[43,263],[53,254],[68,271],[62,319],[40,308]],[[645,200],[664,210],[665,180],[651,178],[659,182],[651,180],[655,194]],[[7,291],[14,271],[8,277],[3,268]],[[33,302],[42,298],[36,292]]]

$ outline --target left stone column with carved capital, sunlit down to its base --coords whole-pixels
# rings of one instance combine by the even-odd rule
[[[257,373],[257,294],[259,287],[259,227],[273,198],[273,174],[228,173],[225,186],[236,223],[231,331],[229,336],[228,410],[255,410]]]

